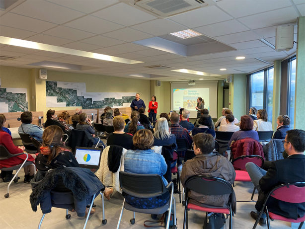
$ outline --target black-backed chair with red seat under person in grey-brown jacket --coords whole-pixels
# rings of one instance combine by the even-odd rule
[[[189,177],[185,182],[185,207],[184,207],[184,219],[183,219],[183,229],[188,229],[188,209],[194,209],[206,212],[206,217],[208,217],[208,212],[213,213],[222,213],[227,214],[230,216],[230,225],[229,229],[232,229],[232,205],[233,205],[233,188],[231,184],[221,178],[214,177],[214,176],[205,176],[205,175],[195,175]],[[201,205],[196,205],[189,203],[188,193],[189,191],[195,191],[197,193],[203,195],[224,195],[229,194],[228,199],[228,207],[224,208],[223,206],[220,207],[203,207]]]

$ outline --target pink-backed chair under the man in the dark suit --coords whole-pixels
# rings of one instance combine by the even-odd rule
[[[282,220],[282,221],[291,222],[291,223],[301,223],[299,226],[299,229],[301,229],[305,222],[305,216],[298,218],[297,220],[294,220],[294,219],[289,219],[289,218],[277,215],[275,213],[269,212],[268,206],[266,205],[266,203],[270,196],[272,196],[273,198],[275,198],[277,200],[285,201],[288,203],[304,203],[305,202],[305,182],[281,184],[281,185],[275,187],[274,189],[272,189],[268,193],[268,195],[265,199],[264,205],[253,226],[253,229],[255,229],[258,224],[259,219],[261,218],[261,216],[263,214],[264,209],[266,209],[268,229],[270,229],[269,218],[271,218],[273,220]]]

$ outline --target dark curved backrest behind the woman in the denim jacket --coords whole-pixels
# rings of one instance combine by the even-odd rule
[[[121,189],[128,195],[151,198],[167,192],[162,178],[157,174],[135,174],[120,171],[119,176]]]

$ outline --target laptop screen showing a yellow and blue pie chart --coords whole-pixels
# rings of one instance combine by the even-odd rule
[[[102,149],[76,147],[75,157],[82,168],[99,168]]]

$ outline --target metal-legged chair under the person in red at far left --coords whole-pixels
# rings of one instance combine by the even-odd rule
[[[10,186],[10,184],[13,181],[15,183],[18,181],[17,177],[18,177],[18,172],[20,171],[20,169],[23,168],[24,166],[28,166],[28,165],[31,164],[31,165],[34,166],[34,171],[35,171],[36,170],[36,166],[35,166],[35,164],[32,161],[27,161],[27,158],[28,158],[28,154],[27,153],[11,154],[11,153],[8,152],[8,150],[4,146],[0,145],[0,160],[9,159],[11,157],[22,155],[22,154],[25,154],[26,158],[25,158],[25,160],[21,164],[17,164],[17,165],[12,166],[12,167],[1,168],[2,171],[12,171],[12,170],[17,170],[18,169],[16,171],[16,174],[13,176],[13,178],[10,180],[10,182],[9,182],[9,184],[7,186],[7,193],[4,195],[5,198],[9,197],[9,186]]]

